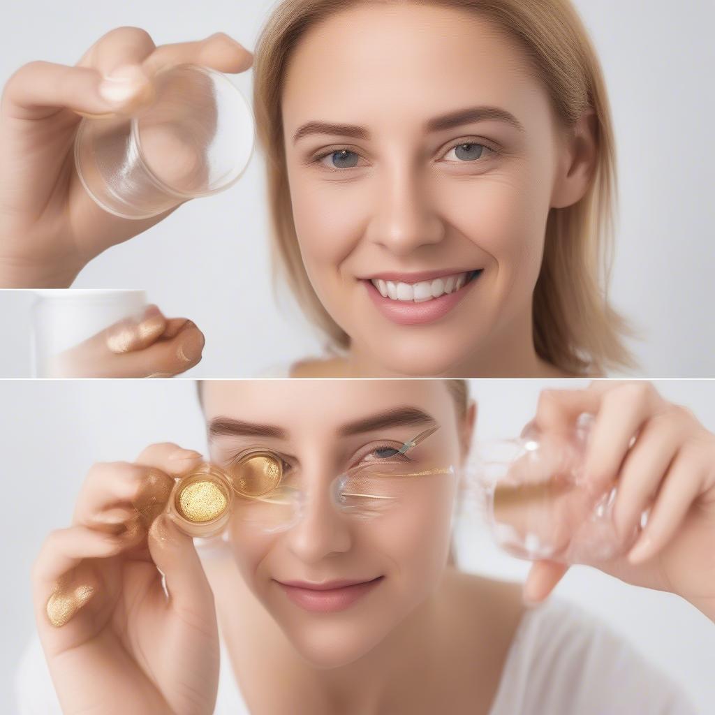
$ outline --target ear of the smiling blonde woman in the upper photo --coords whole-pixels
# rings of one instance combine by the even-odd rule
[[[553,208],[571,206],[586,194],[596,170],[597,136],[598,119],[591,108],[581,114],[572,133],[563,135],[556,181],[551,194]]]

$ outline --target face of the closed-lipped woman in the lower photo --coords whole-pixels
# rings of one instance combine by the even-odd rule
[[[228,529],[248,588],[307,661],[321,668],[355,661],[435,590],[448,557],[456,476],[403,477],[400,499],[368,519],[341,511],[330,484],[433,426],[404,456],[415,471],[458,467],[464,422],[444,383],[209,381],[204,413],[212,461],[227,466],[247,449],[270,450],[285,463],[284,478],[306,495],[301,518],[285,531],[264,533],[245,521],[240,498]],[[296,603],[278,583],[378,578],[358,600],[325,612]]]

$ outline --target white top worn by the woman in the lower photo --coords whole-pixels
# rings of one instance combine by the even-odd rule
[[[16,673],[20,715],[61,715],[35,635]],[[215,715],[250,715],[221,641]],[[696,715],[680,686],[560,596],[524,612],[489,715]]]

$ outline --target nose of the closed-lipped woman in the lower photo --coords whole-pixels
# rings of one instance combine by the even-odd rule
[[[304,563],[317,563],[332,553],[350,549],[347,520],[330,498],[330,489],[317,483],[305,495],[301,516],[287,534],[288,548]]]

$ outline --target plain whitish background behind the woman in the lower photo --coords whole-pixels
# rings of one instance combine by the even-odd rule
[[[518,435],[546,386],[585,381],[473,380],[476,439]],[[656,383],[666,398],[688,405],[715,430],[715,381]],[[4,548],[0,691],[10,692],[16,658],[34,629],[29,573],[47,533],[69,525],[79,488],[95,461],[134,460],[149,443],[172,441],[206,453],[204,423],[192,380],[0,381]],[[476,520],[455,531],[465,571],[522,581],[528,562],[499,551]],[[571,568],[555,593],[580,603],[628,638],[679,681],[700,711],[712,712],[715,626],[670,593],[628,586],[595,568]]]

